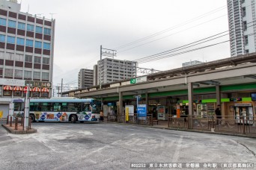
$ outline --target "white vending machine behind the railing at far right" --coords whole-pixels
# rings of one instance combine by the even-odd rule
[[[237,123],[243,124],[243,119],[246,125],[253,124],[253,109],[252,104],[235,104],[234,106],[234,116]]]

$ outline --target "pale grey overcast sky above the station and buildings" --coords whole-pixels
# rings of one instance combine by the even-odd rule
[[[63,78],[64,84],[77,86],[79,69],[93,69],[100,60],[100,45],[118,49],[116,59],[137,60],[228,31],[226,0],[22,0],[22,12],[27,11],[56,20],[54,85]],[[224,36],[189,49],[228,39]],[[163,71],[191,60],[226,57],[230,57],[229,42],[138,66]]]

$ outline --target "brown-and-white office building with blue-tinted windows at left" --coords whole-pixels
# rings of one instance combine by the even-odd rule
[[[20,11],[16,0],[0,0],[0,98],[52,95],[55,19]]]

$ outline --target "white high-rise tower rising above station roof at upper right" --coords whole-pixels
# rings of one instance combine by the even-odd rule
[[[256,51],[255,0],[228,0],[231,56]]]

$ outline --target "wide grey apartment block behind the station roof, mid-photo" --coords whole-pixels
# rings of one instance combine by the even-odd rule
[[[134,61],[104,58],[97,65],[98,85],[136,77],[137,62]]]

